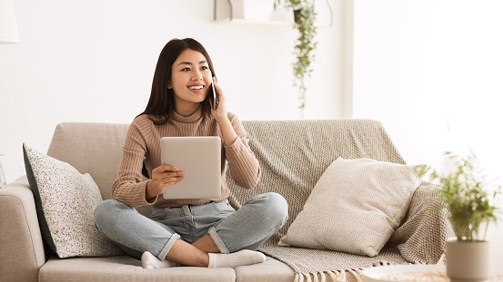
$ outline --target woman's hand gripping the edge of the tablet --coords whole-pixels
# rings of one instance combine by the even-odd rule
[[[146,200],[162,194],[167,187],[185,179],[186,173],[174,166],[162,165],[152,170],[152,179],[146,182]]]

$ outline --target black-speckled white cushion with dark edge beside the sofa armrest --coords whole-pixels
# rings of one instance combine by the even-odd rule
[[[124,254],[95,227],[93,210],[102,198],[91,176],[26,144],[23,151],[42,236],[59,258]]]

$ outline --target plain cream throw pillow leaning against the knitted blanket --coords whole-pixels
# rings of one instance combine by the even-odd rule
[[[375,257],[404,218],[420,184],[417,166],[334,160],[279,246]]]

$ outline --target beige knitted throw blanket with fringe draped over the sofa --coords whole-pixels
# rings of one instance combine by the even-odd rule
[[[365,267],[438,262],[452,229],[448,219],[427,212],[438,201],[429,182],[423,182],[416,190],[406,218],[377,257],[277,246],[279,238],[287,233],[303,209],[317,180],[337,157],[405,163],[380,122],[344,119],[243,124],[250,147],[260,162],[262,178],[255,189],[244,190],[227,177],[229,200],[239,208],[246,199],[270,191],[287,199],[287,223],[260,250],[292,267],[296,281],[347,281],[347,273],[360,281]]]

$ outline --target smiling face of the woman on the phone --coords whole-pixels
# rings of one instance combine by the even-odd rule
[[[195,112],[205,100],[211,83],[211,70],[203,53],[192,49],[180,53],[171,66],[171,82],[168,83],[168,88],[175,92],[176,112]]]

